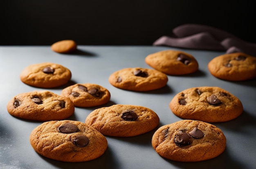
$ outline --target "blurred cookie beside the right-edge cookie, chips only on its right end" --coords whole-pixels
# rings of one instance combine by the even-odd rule
[[[168,75],[185,75],[198,70],[197,60],[183,51],[165,50],[152,53],[145,58],[145,62]]]

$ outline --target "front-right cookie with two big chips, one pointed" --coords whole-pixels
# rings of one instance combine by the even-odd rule
[[[159,127],[152,146],[162,157],[180,162],[198,162],[219,156],[226,137],[218,127],[197,120],[181,120]]]

